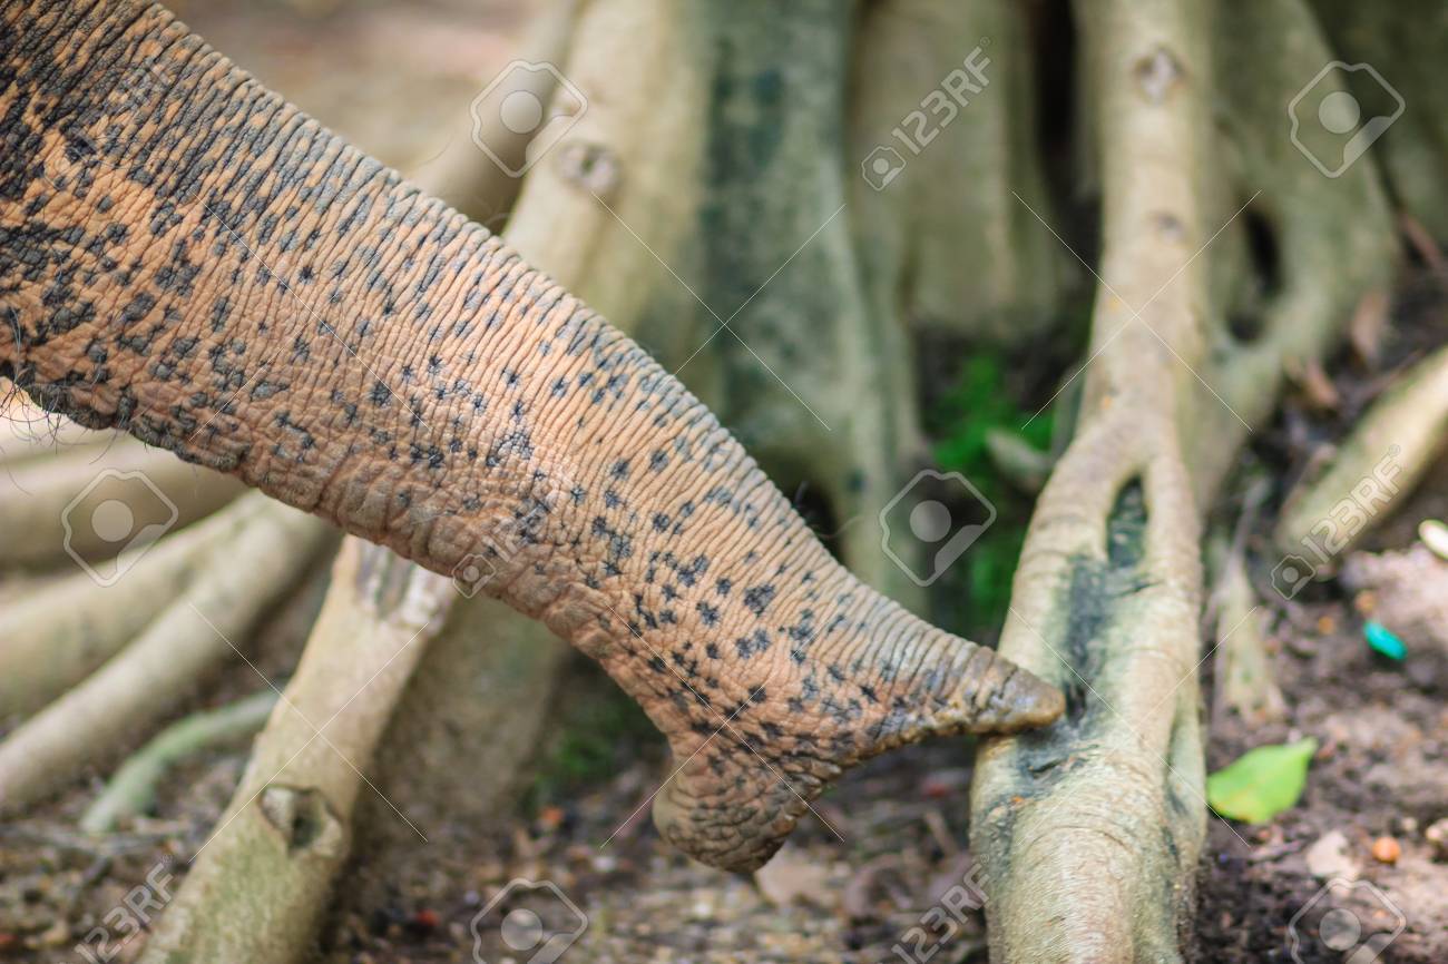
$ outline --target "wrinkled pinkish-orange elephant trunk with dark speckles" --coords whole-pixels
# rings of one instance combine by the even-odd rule
[[[639,346],[161,7],[0,16],[0,375],[547,622],[669,735],[688,853],[756,867],[843,767],[1061,711],[846,572]]]

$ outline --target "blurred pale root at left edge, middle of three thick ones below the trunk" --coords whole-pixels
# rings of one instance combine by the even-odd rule
[[[120,651],[253,512],[236,502],[171,534],[114,585],[78,572],[0,608],[0,716],[39,709]]]

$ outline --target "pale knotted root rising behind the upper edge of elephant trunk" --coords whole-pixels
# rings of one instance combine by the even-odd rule
[[[588,111],[529,171],[507,229],[523,258],[572,282],[670,368],[712,331],[670,275],[696,284],[689,266],[708,96],[685,6],[581,6],[560,68],[589,98]]]

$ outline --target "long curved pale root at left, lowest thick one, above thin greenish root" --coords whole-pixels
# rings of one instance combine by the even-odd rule
[[[169,456],[168,456],[169,457]],[[229,514],[230,515],[230,514]],[[326,544],[326,523],[249,495],[198,575],[146,630],[0,744],[0,812],[13,812],[145,734],[235,654],[243,633]]]

